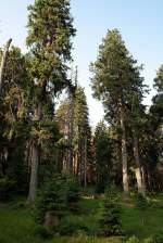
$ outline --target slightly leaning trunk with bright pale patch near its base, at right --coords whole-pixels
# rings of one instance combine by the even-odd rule
[[[138,138],[135,131],[134,131],[134,157],[136,163],[135,174],[137,179],[138,193],[146,195],[146,187],[145,187],[145,180],[142,179],[142,171],[139,156]]]

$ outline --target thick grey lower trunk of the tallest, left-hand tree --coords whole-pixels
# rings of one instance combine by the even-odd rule
[[[37,144],[33,145],[32,151],[32,171],[30,171],[30,182],[29,182],[29,193],[27,203],[33,205],[37,194],[38,186],[38,167],[39,167],[39,146]]]

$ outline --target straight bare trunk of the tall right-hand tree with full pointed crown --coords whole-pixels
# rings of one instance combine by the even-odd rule
[[[121,129],[122,129],[122,170],[123,170],[123,190],[124,197],[129,197],[129,186],[128,186],[128,167],[127,167],[127,145],[126,145],[126,128],[124,119],[124,107],[121,104]]]

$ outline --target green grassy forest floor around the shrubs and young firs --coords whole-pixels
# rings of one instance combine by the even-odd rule
[[[135,201],[122,203],[122,223],[125,236],[136,235],[139,239],[163,232],[163,194],[150,197],[150,207],[145,212],[136,208]],[[41,240],[36,234],[33,210],[25,208],[22,201],[0,204],[0,243],[121,243],[120,239],[99,239],[99,218],[102,213],[102,200],[85,197],[80,202],[80,214],[67,215],[64,218],[63,231],[66,227],[74,232],[77,225],[83,226],[86,234],[76,233],[71,236],[55,235],[51,240]]]

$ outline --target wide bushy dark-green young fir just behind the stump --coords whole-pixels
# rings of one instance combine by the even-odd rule
[[[74,178],[61,174],[53,175],[39,192],[36,201],[36,219],[43,223],[48,212],[61,218],[72,206],[77,207],[79,199],[79,188]]]

